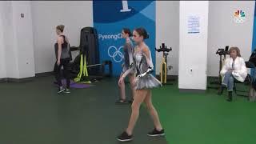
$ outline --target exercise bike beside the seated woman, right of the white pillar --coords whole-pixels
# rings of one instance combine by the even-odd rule
[[[210,84],[217,84],[218,86],[208,86],[208,88],[218,89],[219,86],[221,86],[222,76],[221,76],[220,72],[222,70],[223,63],[225,62],[226,54],[228,54],[228,50],[229,50],[229,46],[226,46],[225,50],[224,49],[218,49],[217,50],[216,54],[219,55],[218,80],[215,80],[214,82],[210,82]],[[223,59],[222,59],[222,56],[224,57]]]

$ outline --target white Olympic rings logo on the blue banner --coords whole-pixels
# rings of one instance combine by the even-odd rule
[[[123,46],[120,46],[119,48],[115,46],[110,46],[107,50],[107,53],[109,54],[110,58],[114,59],[114,62],[122,62],[122,59],[124,58],[121,49]]]

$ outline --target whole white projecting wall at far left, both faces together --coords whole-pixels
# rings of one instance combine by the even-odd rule
[[[34,46],[30,2],[1,2],[2,78],[34,76]],[[25,18],[21,18],[21,13]],[[2,71],[2,70],[1,70]]]

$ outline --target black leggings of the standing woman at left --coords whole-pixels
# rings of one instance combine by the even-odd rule
[[[57,61],[55,62],[54,65],[54,75],[55,78],[58,82],[58,86],[62,86],[62,66],[64,69],[64,78],[66,78],[66,88],[69,89],[70,88],[70,70],[68,67],[68,64],[70,63],[69,59],[61,59],[61,63],[58,66]]]

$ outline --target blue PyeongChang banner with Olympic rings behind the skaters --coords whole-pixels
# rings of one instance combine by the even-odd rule
[[[146,44],[150,47],[155,66],[155,2],[154,1],[93,1],[94,28],[98,30],[100,61],[113,62],[113,74],[122,71],[123,45],[122,28],[134,30],[144,27],[150,38]]]

